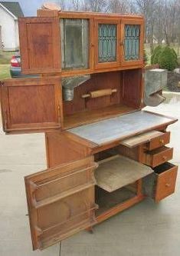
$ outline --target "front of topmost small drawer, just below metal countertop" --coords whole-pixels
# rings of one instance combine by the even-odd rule
[[[155,148],[162,147],[163,145],[169,144],[170,131],[165,132],[163,135],[159,135],[157,138],[152,138],[147,144],[147,149],[152,150]]]

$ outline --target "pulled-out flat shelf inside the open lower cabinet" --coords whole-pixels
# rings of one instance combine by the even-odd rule
[[[97,185],[108,192],[116,191],[153,172],[152,168],[122,155],[99,161],[95,171]]]

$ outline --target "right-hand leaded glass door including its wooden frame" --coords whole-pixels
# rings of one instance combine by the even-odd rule
[[[143,64],[143,20],[122,19],[121,65]]]

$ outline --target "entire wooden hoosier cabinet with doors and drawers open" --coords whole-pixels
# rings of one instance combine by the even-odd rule
[[[47,169],[25,177],[34,250],[172,194],[177,120],[142,110],[162,101],[162,79],[146,93],[143,18],[38,10],[19,33],[22,72],[38,77],[2,81],[2,121],[7,134],[45,133]]]

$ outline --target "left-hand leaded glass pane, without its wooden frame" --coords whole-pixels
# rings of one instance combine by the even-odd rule
[[[117,25],[99,24],[98,62],[116,62]]]

